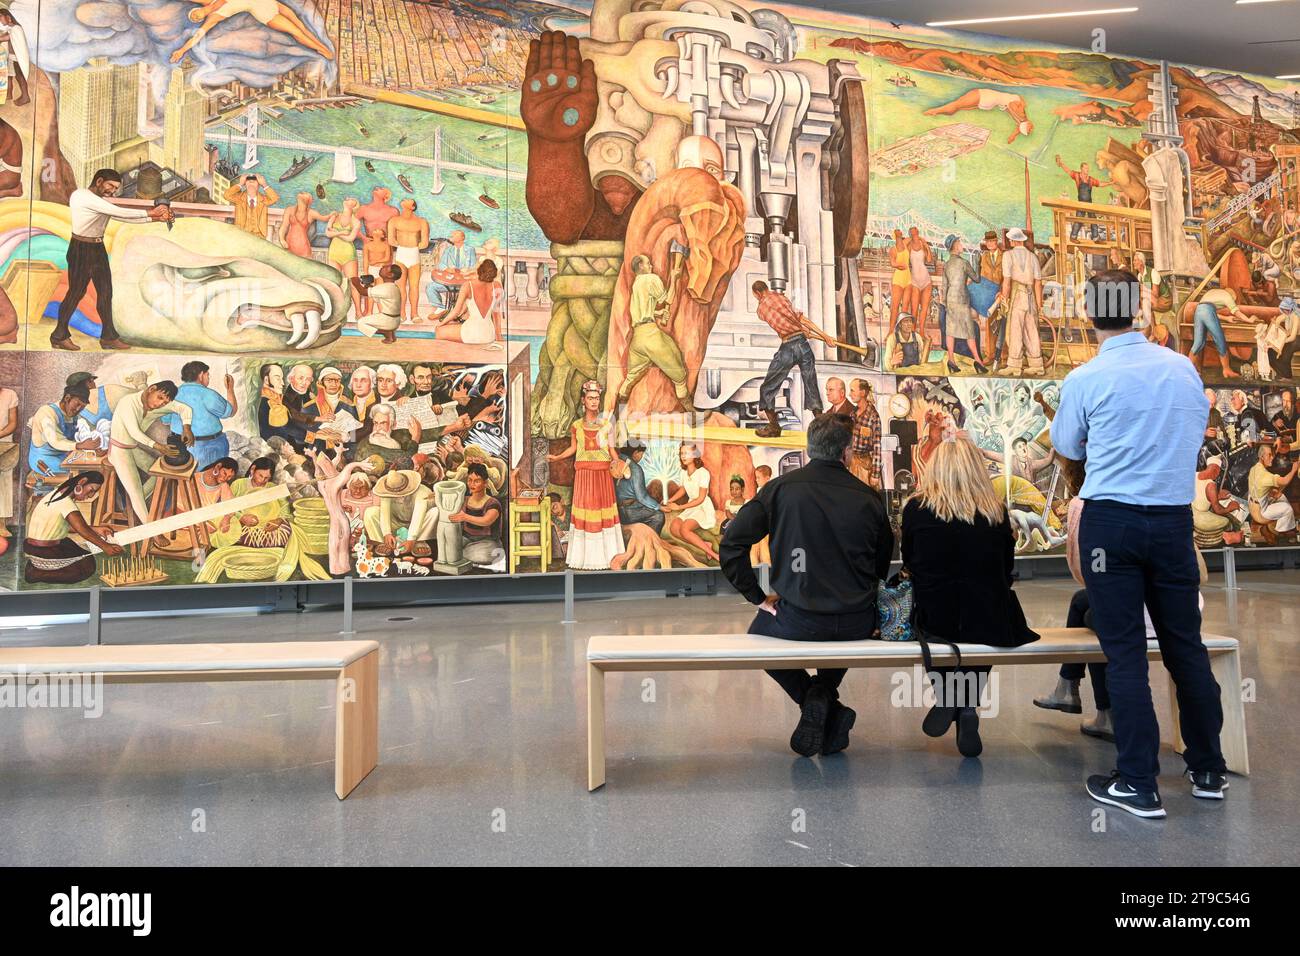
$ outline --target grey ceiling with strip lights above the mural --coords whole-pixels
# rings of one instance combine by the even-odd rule
[[[1300,73],[1300,0],[794,0],[829,10],[909,23],[1026,13],[1138,7],[1138,13],[953,27],[1091,48],[1106,30],[1108,51],[1268,77]]]

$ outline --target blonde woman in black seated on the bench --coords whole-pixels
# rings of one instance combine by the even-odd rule
[[[913,626],[927,640],[1015,648],[1039,636],[1011,591],[1015,536],[984,457],[949,424],[902,510],[902,563],[911,575]],[[935,667],[936,704],[922,730],[957,723],[957,749],[978,757],[979,695],[989,667]]]

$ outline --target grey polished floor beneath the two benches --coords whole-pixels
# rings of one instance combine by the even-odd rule
[[[1243,574],[1235,594],[1219,584],[1205,630],[1244,644],[1252,775],[1222,804],[1193,800],[1166,754],[1164,822],[1110,812],[1097,831],[1083,779],[1113,749],[1030,704],[1054,680],[1046,666],[1001,670],[979,760],[922,735],[923,711],[890,706],[885,671],[850,671],[853,744],[816,760],[788,749],[794,708],[762,674],[614,674],[608,784],[588,793],[586,637],[744,630],[750,610],[728,594],[581,602],[567,628],[556,604],[358,613],[382,644],[381,762],[342,803],[328,682],[109,685],[99,719],[3,711],[0,862],[1294,865],[1300,575]],[[1063,623],[1071,583],[1019,591],[1032,622]],[[339,620],[117,620],[104,641],[318,640]]]

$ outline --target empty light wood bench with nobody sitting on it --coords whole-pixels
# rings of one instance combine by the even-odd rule
[[[342,800],[380,761],[380,645],[100,644],[0,648],[0,674],[103,675],[105,684],[334,680],[334,793]]]

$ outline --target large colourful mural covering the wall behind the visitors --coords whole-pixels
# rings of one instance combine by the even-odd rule
[[[1197,542],[1294,544],[1295,85],[729,0],[13,0],[0,587],[715,566],[826,410],[896,516],[956,423],[1056,553],[1108,267],[1214,403]]]

